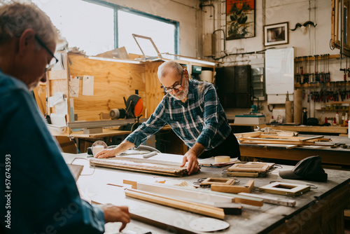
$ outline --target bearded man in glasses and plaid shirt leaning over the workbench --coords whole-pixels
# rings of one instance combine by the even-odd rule
[[[239,144],[213,84],[190,80],[188,71],[174,61],[160,65],[158,78],[167,95],[155,112],[125,141],[114,149],[97,153],[96,158],[114,157],[138,147],[167,124],[190,148],[181,165],[188,162],[188,174],[200,169],[197,158],[219,155],[240,158]]]

